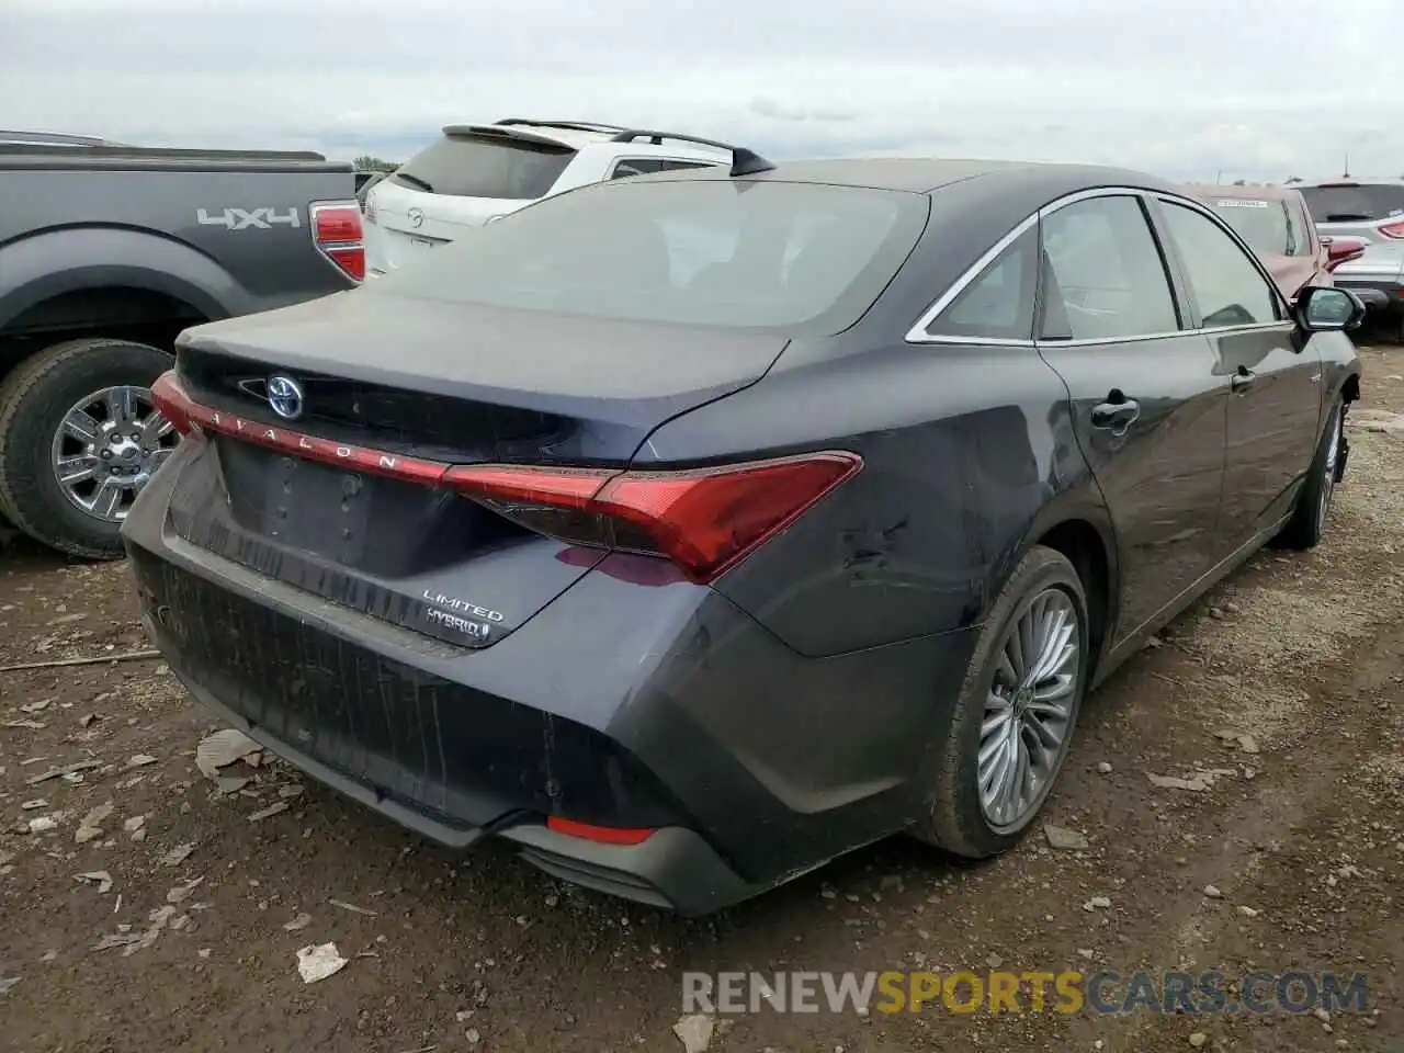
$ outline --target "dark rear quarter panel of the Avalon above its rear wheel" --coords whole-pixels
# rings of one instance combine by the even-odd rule
[[[1067,390],[1033,348],[807,351],[665,424],[636,459],[862,455],[862,472],[716,585],[802,654],[969,628],[1039,531],[1063,517],[1109,531]]]

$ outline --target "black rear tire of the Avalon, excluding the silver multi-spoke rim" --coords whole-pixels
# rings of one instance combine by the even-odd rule
[[[984,720],[986,698],[994,682],[995,667],[1011,626],[1049,588],[1060,590],[1071,600],[1077,621],[1081,660],[1077,682],[1073,687],[1071,716],[1061,755],[1033,806],[1018,820],[1018,826],[997,828],[980,806],[977,785],[980,726]],[[1087,691],[1090,658],[1087,595],[1077,570],[1063,553],[1035,546],[1009,576],[980,630],[946,737],[935,744],[936,755],[925,767],[931,774],[928,776],[931,796],[927,800],[925,814],[911,833],[928,844],[970,859],[998,855],[1016,845],[1033,826],[1067,758],[1082,695]]]

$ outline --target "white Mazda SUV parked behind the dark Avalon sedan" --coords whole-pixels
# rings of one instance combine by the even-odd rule
[[[710,139],[581,121],[449,125],[366,195],[366,275],[553,194],[649,171],[731,164],[733,156]]]

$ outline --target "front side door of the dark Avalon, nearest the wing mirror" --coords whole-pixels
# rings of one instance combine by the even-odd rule
[[[1228,373],[1228,456],[1220,534],[1226,552],[1292,507],[1321,420],[1321,358],[1287,317],[1252,256],[1210,216],[1157,201],[1185,275],[1195,324]]]

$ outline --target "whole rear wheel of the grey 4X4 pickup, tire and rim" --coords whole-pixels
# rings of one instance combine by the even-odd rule
[[[21,362],[0,383],[0,512],[59,552],[119,557],[132,501],[180,439],[150,392],[171,362],[104,337]]]

